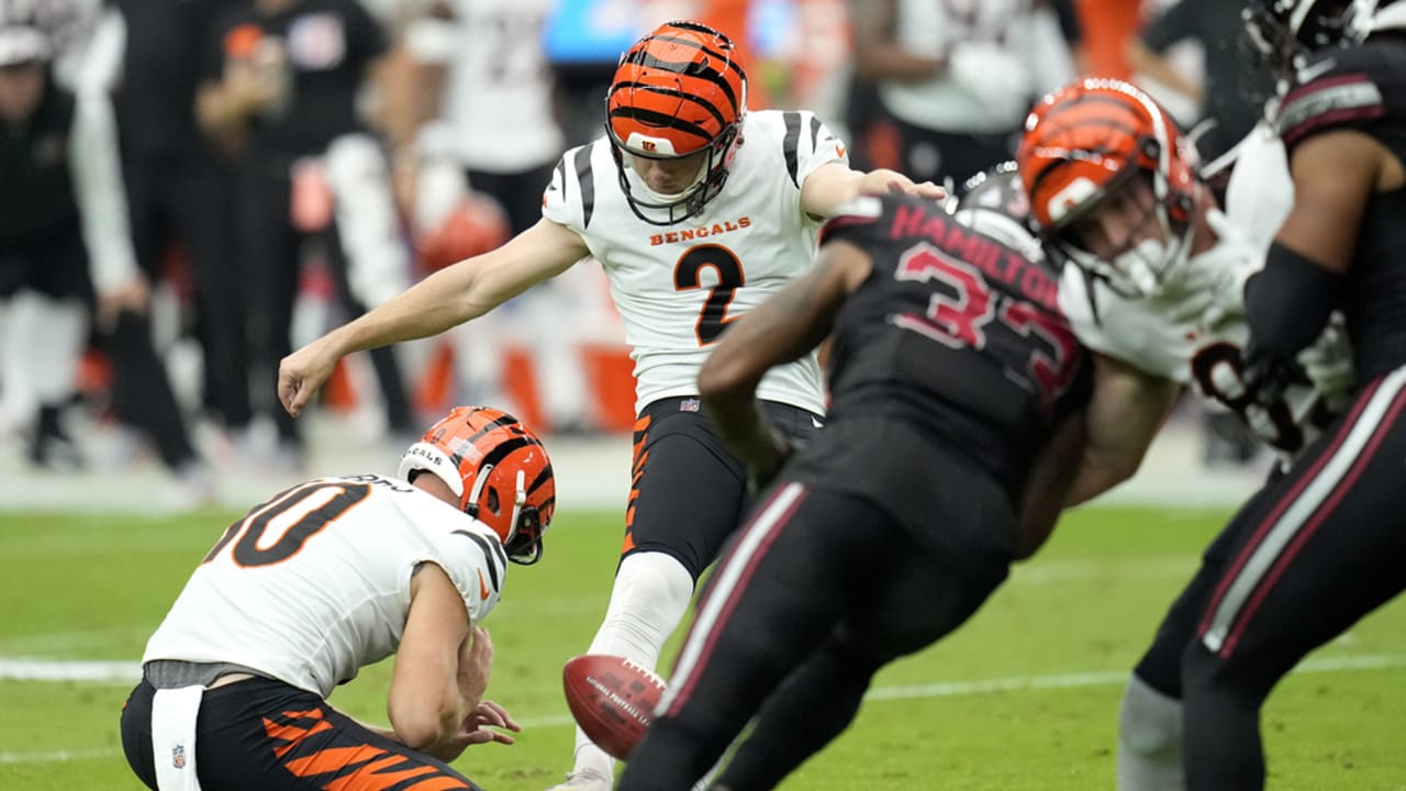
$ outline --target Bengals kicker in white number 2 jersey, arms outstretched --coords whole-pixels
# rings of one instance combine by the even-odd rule
[[[749,113],[735,52],[689,21],[641,38],[607,93],[606,134],[557,163],[541,221],[314,341],[278,374],[298,414],[340,356],[444,332],[599,260],[633,348],[638,418],[621,562],[588,650],[651,669],[747,502],[741,463],[699,412],[699,366],[737,317],[810,267],[815,229],[839,205],[889,190],[942,194],[893,170],[852,170],[810,113]],[[815,355],[770,372],[758,393],[790,436],[820,425]],[[578,730],[564,788],[612,778],[612,759]]]

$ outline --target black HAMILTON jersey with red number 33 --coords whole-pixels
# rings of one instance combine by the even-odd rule
[[[821,236],[865,251],[873,270],[837,315],[830,419],[811,445],[852,422],[900,429],[863,457],[807,452],[799,477],[834,464],[844,472],[827,484],[873,479],[889,493],[911,477],[911,491],[883,505],[912,505],[917,521],[941,512],[924,505],[942,495],[922,464],[922,448],[936,445],[1018,501],[1053,426],[1088,394],[1087,353],[1059,311],[1053,272],[912,197],[853,201]]]

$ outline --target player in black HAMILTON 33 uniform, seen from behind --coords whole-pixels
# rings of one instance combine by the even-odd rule
[[[754,718],[714,787],[780,783],[880,667],[962,625],[1036,549],[1085,422],[1105,419],[1102,366],[1019,221],[866,197],[821,238],[814,270],[699,374],[728,446],[779,474],[714,569],[621,790],[689,788]],[[830,419],[792,456],[758,383],[827,336]]]

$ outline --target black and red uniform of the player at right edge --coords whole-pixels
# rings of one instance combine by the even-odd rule
[[[1355,129],[1406,162],[1403,41],[1374,37],[1301,69],[1312,79],[1285,97],[1279,115],[1291,160],[1315,135]],[[1204,598],[1182,656],[1191,788],[1261,788],[1258,722],[1270,691],[1305,654],[1406,587],[1403,217],[1406,187],[1367,196],[1351,266],[1339,284],[1333,307],[1347,319],[1361,380],[1353,404],[1288,474],[1240,510],[1192,583]],[[1264,296],[1251,280],[1251,338],[1284,346],[1256,324],[1257,310],[1270,307],[1256,304]],[[1303,297],[1275,298],[1295,305]]]

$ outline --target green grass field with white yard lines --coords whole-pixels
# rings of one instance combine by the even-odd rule
[[[0,515],[0,660],[135,663],[231,517]],[[1223,518],[1071,514],[966,628],[880,674],[855,725],[786,788],[1111,788],[1122,678]],[[540,791],[569,768],[560,671],[605,609],[619,533],[613,514],[561,515],[543,563],[515,570],[489,616],[489,694],[524,730],[457,763],[486,788]],[[384,722],[388,680],[388,664],[370,667],[333,704]],[[139,788],[117,730],[129,687],[0,680],[0,788]],[[1313,654],[1264,730],[1272,788],[1406,790],[1406,607]]]

